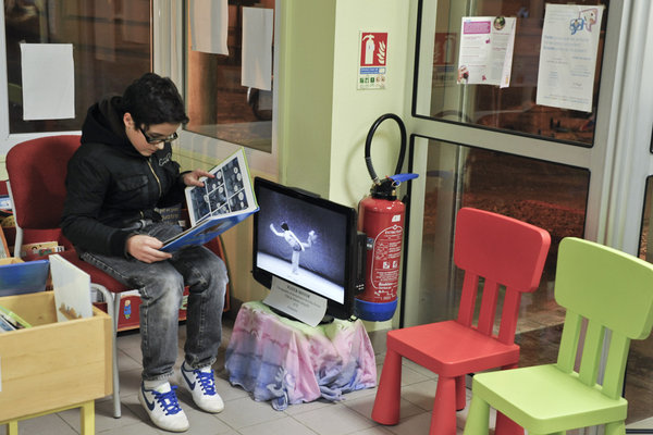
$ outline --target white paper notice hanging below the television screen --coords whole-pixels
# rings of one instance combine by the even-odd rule
[[[272,287],[263,303],[310,326],[317,326],[326,313],[325,298],[306,291],[276,276],[272,277]]]

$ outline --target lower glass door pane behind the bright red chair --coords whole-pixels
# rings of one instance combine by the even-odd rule
[[[421,279],[418,293],[406,296],[418,319],[407,323],[456,318],[463,276],[453,262],[455,215],[461,207],[492,211],[551,234],[540,287],[521,297],[516,340],[519,365],[554,362],[565,315],[553,294],[557,249],[564,237],[583,235],[589,181],[584,169],[430,140]]]

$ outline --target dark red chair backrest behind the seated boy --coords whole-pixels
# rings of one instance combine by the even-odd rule
[[[27,140],[9,150],[7,173],[19,227],[59,227],[67,162],[78,147],[78,135],[60,135]]]

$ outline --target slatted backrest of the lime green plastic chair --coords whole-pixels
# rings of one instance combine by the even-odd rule
[[[653,326],[653,264],[593,241],[564,238],[555,299],[567,310],[557,366],[571,373],[580,357],[578,378],[619,397],[630,340],[646,338]],[[609,347],[599,382],[606,330]]]

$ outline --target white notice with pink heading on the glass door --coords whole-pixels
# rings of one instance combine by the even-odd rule
[[[458,54],[459,85],[510,85],[516,18],[464,16]]]

